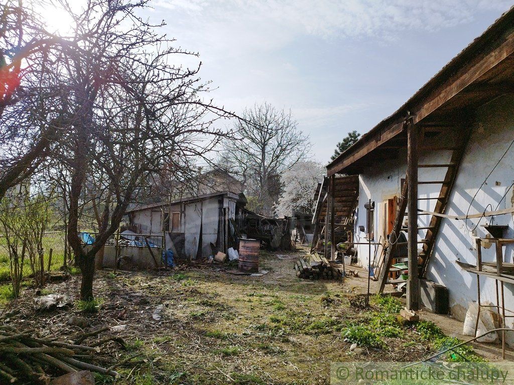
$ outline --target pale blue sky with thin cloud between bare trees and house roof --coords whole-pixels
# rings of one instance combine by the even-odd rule
[[[155,0],[217,105],[291,109],[323,163],[402,105],[506,11],[503,0]]]

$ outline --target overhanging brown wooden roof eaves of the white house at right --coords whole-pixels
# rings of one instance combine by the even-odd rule
[[[371,161],[393,158],[406,146],[404,122],[409,116],[418,126],[450,130],[469,119],[473,109],[514,92],[513,32],[511,8],[396,112],[329,163],[327,175],[358,174]]]

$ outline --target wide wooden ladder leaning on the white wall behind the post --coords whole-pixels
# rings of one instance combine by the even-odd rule
[[[436,214],[444,214],[450,194],[453,188],[453,184],[455,183],[455,178],[457,176],[458,168],[461,164],[462,157],[464,155],[464,151],[469,139],[469,128],[459,128],[457,132],[455,133],[455,137],[460,137],[461,140],[458,141],[458,144],[454,146],[420,146],[420,149],[425,150],[451,150],[452,155],[450,158],[449,163],[447,164],[419,164],[418,170],[420,168],[446,168],[446,175],[445,178],[441,181],[418,181],[418,185],[423,184],[440,184],[441,188],[439,191],[439,195],[435,198],[418,198],[418,202],[422,200],[436,200],[435,208],[433,209],[433,213]],[[423,141],[424,138],[424,132],[422,130],[421,132],[421,140]],[[418,172],[418,175],[420,173]],[[398,201],[398,209],[396,211],[396,217],[394,221],[393,226],[393,232],[390,236],[390,243],[386,252],[386,255],[384,256],[382,266],[380,267],[379,271],[379,278],[378,278],[378,293],[382,293],[384,290],[385,285],[387,284],[398,284],[402,282],[406,282],[406,280],[403,279],[389,279],[390,273],[400,271],[401,269],[393,267],[393,261],[398,258],[405,258],[405,256],[402,257],[393,257],[396,252],[397,239],[402,231],[402,223],[403,218],[405,218],[406,210],[407,210],[407,192],[408,192],[408,178],[409,176],[406,175],[405,182],[403,183],[402,189],[401,189],[401,196]],[[418,177],[419,178],[419,177]],[[423,178],[423,177],[421,177]],[[425,215],[423,213],[419,213],[420,215]],[[419,263],[419,277],[424,278],[427,272],[428,262],[430,260],[430,257],[432,256],[435,240],[437,238],[437,233],[439,231],[439,227],[442,222],[442,217],[432,215],[430,219],[430,224],[428,226],[419,226],[419,230],[427,230],[426,236],[424,239],[418,241],[419,244],[423,244],[423,247],[421,249],[421,252],[418,254],[418,263]]]

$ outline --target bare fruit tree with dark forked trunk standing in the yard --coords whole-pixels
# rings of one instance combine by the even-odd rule
[[[83,300],[93,299],[95,255],[149,176],[166,165],[187,178],[194,161],[227,136],[212,123],[233,116],[203,101],[207,88],[197,77],[199,67],[171,64],[177,55],[194,53],[174,48],[157,33],[159,25],[137,16],[146,3],[90,0],[76,13],[61,2],[76,36],[55,58],[68,85],[70,125],[52,159],[69,175],[67,238],[82,272]],[[100,207],[99,228],[84,247],[82,208],[91,200]]]

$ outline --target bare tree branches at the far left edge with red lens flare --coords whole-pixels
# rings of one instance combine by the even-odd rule
[[[65,125],[50,56],[72,42],[44,30],[37,5],[0,5],[0,198],[33,174]]]

